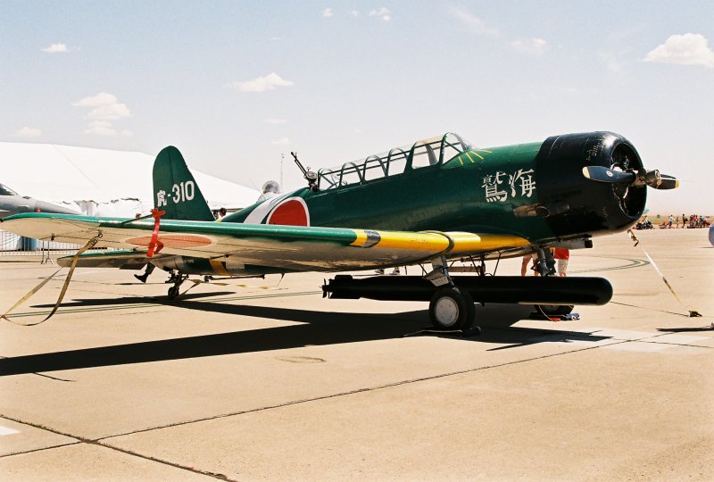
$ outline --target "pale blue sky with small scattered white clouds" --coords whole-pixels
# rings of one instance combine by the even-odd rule
[[[0,0],[0,141],[156,154],[249,187],[456,132],[610,130],[662,213],[714,213],[714,2]],[[0,160],[0,165],[12,160]]]

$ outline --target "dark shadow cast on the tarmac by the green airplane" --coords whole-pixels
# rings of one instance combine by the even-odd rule
[[[220,294],[222,295],[222,293]],[[207,294],[196,295],[196,297],[205,295]],[[217,293],[212,295],[217,295]],[[176,302],[170,302],[166,298],[152,298],[150,301],[151,303],[172,304],[201,312],[220,312],[269,320],[286,320],[300,324],[15,356],[0,359],[0,376],[283,350],[305,345],[337,345],[394,339],[419,332],[421,328],[428,326],[427,310],[397,313],[313,312],[289,308],[195,301],[188,296]],[[76,308],[146,302],[145,297],[122,297],[112,300],[79,299],[63,304],[63,306]],[[454,339],[464,342],[499,344],[500,346],[492,350],[502,350],[543,342],[572,340],[595,342],[607,338],[587,333],[511,327],[516,321],[527,318],[530,311],[531,307],[519,305],[479,306],[477,324],[484,328],[482,334],[477,337]],[[547,323],[544,321],[544,324]]]

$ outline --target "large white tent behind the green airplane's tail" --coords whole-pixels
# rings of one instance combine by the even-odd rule
[[[134,217],[153,207],[148,154],[56,144],[0,142],[0,182],[21,195],[92,216]],[[189,165],[190,168],[190,165]],[[257,201],[258,190],[191,170],[212,209]]]

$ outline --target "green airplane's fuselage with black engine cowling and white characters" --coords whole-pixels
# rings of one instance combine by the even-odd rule
[[[534,244],[591,237],[628,229],[643,212],[645,187],[619,193],[582,174],[585,166],[610,168],[625,158],[630,167],[642,166],[627,139],[593,132],[469,149],[431,165],[407,160],[403,170],[377,179],[354,175],[364,169],[351,163],[342,182],[333,171],[329,186],[321,172],[317,192],[298,189],[222,222],[510,233]]]

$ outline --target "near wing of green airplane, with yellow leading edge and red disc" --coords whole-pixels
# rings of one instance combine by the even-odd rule
[[[140,257],[151,242],[154,220],[23,213],[4,219],[0,228],[26,237],[77,245],[99,237],[98,247],[134,250]],[[513,235],[190,220],[162,220],[158,241],[163,246],[163,255],[228,258],[233,262],[301,271],[378,268],[426,262],[441,254],[453,257],[530,244],[527,239]],[[120,255],[132,256],[126,252]]]

